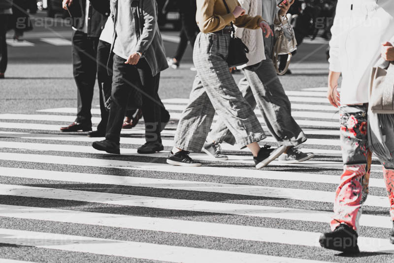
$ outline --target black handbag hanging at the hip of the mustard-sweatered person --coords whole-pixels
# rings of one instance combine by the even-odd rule
[[[230,14],[230,9],[226,3],[226,0],[223,0],[223,2],[226,6],[227,12],[229,12]],[[231,22],[231,32],[232,34],[230,38],[227,64],[229,64],[229,68],[234,68],[249,62],[249,59],[246,57],[246,53],[249,53],[249,48],[242,42],[241,38],[235,37],[235,29],[232,22]]]

